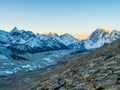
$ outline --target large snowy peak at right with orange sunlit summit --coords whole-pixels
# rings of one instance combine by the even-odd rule
[[[120,39],[120,31],[108,31],[103,28],[98,28],[86,40],[83,40],[80,43],[72,44],[72,47],[80,49],[84,46],[87,50],[95,49],[105,44],[109,44],[117,39]]]

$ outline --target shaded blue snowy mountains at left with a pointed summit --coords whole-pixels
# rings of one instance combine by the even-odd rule
[[[49,35],[38,35],[31,31],[18,30],[16,27],[10,32],[0,30],[0,43],[9,49],[19,52],[35,53],[67,49],[63,43]]]

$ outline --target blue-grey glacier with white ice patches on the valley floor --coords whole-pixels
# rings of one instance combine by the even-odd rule
[[[74,52],[74,50],[57,50],[37,54],[25,54],[28,60],[12,60],[4,55],[0,55],[0,76],[9,74],[38,70],[49,65],[56,64],[64,56]]]

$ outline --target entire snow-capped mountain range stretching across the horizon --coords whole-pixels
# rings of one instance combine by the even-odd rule
[[[10,32],[0,30],[0,45],[15,52],[37,53],[49,50],[78,49],[89,50],[99,48],[120,38],[120,31],[96,29],[87,39],[79,40],[70,34],[34,34],[31,31],[18,30]]]

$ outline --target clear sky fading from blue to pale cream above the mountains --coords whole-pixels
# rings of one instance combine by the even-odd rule
[[[120,0],[0,0],[0,29],[89,34],[120,30]]]

